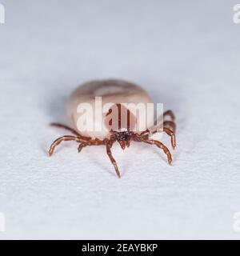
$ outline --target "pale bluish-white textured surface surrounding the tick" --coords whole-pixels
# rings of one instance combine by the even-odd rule
[[[240,24],[228,1],[1,0],[0,238],[240,238]],[[79,83],[123,78],[174,110],[154,146],[77,153],[48,126]],[[166,136],[163,139],[169,145]]]

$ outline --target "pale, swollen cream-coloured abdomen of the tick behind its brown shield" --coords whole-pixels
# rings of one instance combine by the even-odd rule
[[[95,109],[95,98],[101,97],[102,99],[102,108],[106,106],[106,103],[111,103],[107,106],[107,111],[100,111],[99,107]],[[125,82],[122,80],[98,80],[86,82],[82,86],[79,86],[76,90],[74,90],[73,94],[70,95],[70,98],[67,102],[67,115],[70,118],[70,122],[74,126],[76,130],[83,136],[88,136],[91,138],[109,138],[110,135],[110,126],[108,126],[108,122],[106,122],[107,112],[111,109],[110,106],[124,106],[124,104],[134,103],[134,105],[138,105],[138,103],[142,103],[144,106],[147,103],[152,103],[150,96],[143,90],[140,86],[134,85],[130,82]],[[94,127],[102,127],[102,129],[94,129],[93,126],[85,126],[79,127],[79,120],[82,117],[83,113],[80,113],[79,106],[82,103],[87,103],[88,106],[91,106],[93,110],[93,118],[94,118]],[[135,131],[140,133],[142,130],[146,130],[147,127],[144,126],[144,122],[139,122],[138,115],[135,115],[136,112],[131,111],[130,127],[135,127]],[[134,114],[133,114],[134,113]],[[87,114],[85,112],[85,114]],[[91,114],[90,112],[88,114]],[[154,113],[148,113],[148,120],[154,120]],[[144,127],[143,127],[144,126]],[[122,127],[125,129],[126,127]]]

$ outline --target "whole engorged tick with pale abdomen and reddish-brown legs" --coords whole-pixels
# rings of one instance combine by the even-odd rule
[[[105,111],[98,112],[99,107],[96,105],[96,97],[101,99],[101,106],[106,106]],[[144,142],[150,145],[158,146],[166,154],[169,164],[172,162],[170,150],[157,140],[151,139],[150,135],[158,132],[157,126],[146,127],[143,120],[136,112],[130,109],[141,102],[142,106],[152,103],[150,96],[140,86],[122,80],[102,80],[87,82],[79,86],[73,94],[71,94],[67,102],[67,114],[73,128],[58,123],[52,123],[51,126],[57,126],[68,130],[72,135],[62,136],[56,139],[50,146],[49,155],[54,153],[54,149],[63,141],[75,141],[78,143],[78,152],[86,146],[106,146],[106,154],[114,165],[114,169],[118,178],[121,177],[117,163],[112,155],[111,147],[114,142],[118,142],[125,150],[130,146],[131,141]],[[127,105],[126,103],[130,103]],[[90,107],[90,113],[82,113],[79,106]],[[116,110],[114,112],[114,110]],[[114,122],[114,113],[117,114],[117,122]],[[122,118],[123,113],[126,118]],[[85,129],[80,126],[81,118],[86,115],[86,119],[94,118],[94,123],[86,122]],[[110,118],[111,116],[111,118]],[[169,117],[166,120],[166,117]],[[124,120],[123,120],[124,119]],[[154,119],[154,113],[148,112],[148,120]],[[98,127],[98,129],[93,129]],[[174,149],[175,142],[175,122],[174,114],[171,110],[163,113],[162,131],[170,136],[171,145]]]

